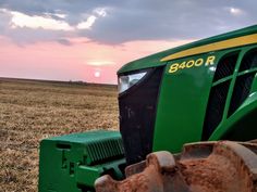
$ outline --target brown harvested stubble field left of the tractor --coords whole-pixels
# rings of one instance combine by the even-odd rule
[[[0,191],[37,191],[39,141],[118,129],[117,87],[0,78]]]

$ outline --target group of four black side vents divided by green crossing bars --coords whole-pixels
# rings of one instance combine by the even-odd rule
[[[219,61],[206,111],[203,140],[208,140],[217,126],[229,118],[246,100],[257,71],[257,49],[252,49],[236,66],[240,51],[225,54]],[[238,73],[235,68],[240,68]],[[248,72],[248,69],[252,69]],[[233,76],[232,76],[233,75]],[[220,81],[219,81],[220,80]],[[233,84],[231,84],[233,81]],[[229,94],[232,91],[232,95]],[[228,98],[229,97],[229,98]],[[230,101],[230,102],[228,102]],[[228,114],[225,106],[228,103]]]

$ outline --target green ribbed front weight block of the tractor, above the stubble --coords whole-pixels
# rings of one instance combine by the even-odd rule
[[[94,191],[103,174],[122,178],[124,151],[118,131],[89,131],[40,143],[39,192]]]

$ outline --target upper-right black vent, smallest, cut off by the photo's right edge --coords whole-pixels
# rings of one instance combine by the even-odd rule
[[[242,60],[240,72],[257,67],[257,49],[250,50]]]

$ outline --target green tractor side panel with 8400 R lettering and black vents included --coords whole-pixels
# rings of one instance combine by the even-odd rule
[[[233,139],[228,138],[229,129],[233,129],[228,121],[254,93],[256,72],[256,44],[168,63],[159,94],[154,151],[179,152],[187,142]]]

